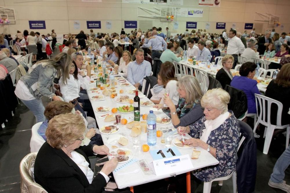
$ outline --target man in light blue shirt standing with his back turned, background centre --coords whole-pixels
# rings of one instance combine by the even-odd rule
[[[154,60],[154,58],[160,58],[162,51],[166,50],[167,43],[162,37],[157,36],[156,30],[153,30],[152,37],[148,38],[148,42],[145,41],[143,47],[152,47],[151,58]]]

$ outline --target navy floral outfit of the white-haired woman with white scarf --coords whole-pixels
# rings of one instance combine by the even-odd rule
[[[198,179],[208,182],[218,177],[228,176],[235,170],[238,159],[238,145],[240,141],[240,125],[238,120],[232,115],[218,128],[209,135],[207,144],[216,148],[216,159],[220,162],[215,166],[208,166],[193,171],[193,175]],[[190,135],[193,138],[200,139],[202,130],[205,129],[205,117],[189,125]]]

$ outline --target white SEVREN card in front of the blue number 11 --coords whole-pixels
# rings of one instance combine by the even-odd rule
[[[182,156],[175,156],[166,159],[159,159],[153,161],[155,174],[157,176],[169,174],[175,176],[177,172],[192,169],[193,166],[188,154]]]

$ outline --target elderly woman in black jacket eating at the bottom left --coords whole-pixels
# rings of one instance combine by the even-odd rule
[[[80,147],[86,129],[80,115],[57,115],[49,121],[47,142],[37,153],[34,166],[35,181],[48,192],[102,192],[108,175],[116,168],[116,158],[104,164],[93,179],[88,156],[108,155],[107,146]]]

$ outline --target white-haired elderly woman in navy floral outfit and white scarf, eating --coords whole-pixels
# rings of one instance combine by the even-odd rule
[[[219,164],[193,171],[198,179],[208,182],[235,171],[238,159],[240,126],[232,111],[228,111],[230,95],[222,89],[212,89],[201,99],[204,116],[193,124],[179,127],[178,133],[192,137],[184,144],[201,147],[213,155]]]

